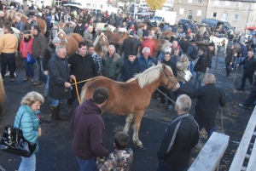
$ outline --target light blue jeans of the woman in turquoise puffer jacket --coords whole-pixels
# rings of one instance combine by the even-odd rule
[[[31,157],[21,157],[19,171],[35,171],[36,170],[36,155]]]

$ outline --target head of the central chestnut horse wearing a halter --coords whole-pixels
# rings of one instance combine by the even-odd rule
[[[164,76],[161,83],[168,89],[174,88],[177,84],[177,78],[173,75],[172,69],[169,66],[162,64],[162,72],[164,73]]]

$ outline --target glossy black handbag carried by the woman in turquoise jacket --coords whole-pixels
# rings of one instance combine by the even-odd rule
[[[20,117],[20,121],[23,117],[24,112]],[[19,128],[14,128],[13,126],[9,125],[5,127],[3,131],[3,137],[0,142],[0,150],[21,157],[30,157],[32,153],[36,150],[37,144],[33,144],[27,141],[22,134],[22,130],[20,130]]]

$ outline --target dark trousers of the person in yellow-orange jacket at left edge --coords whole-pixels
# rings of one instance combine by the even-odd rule
[[[11,78],[15,78],[15,53],[1,54],[1,75],[4,78],[6,67],[8,66],[9,74]]]

